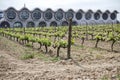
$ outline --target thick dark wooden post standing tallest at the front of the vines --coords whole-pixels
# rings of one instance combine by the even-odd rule
[[[71,58],[72,18],[69,19],[67,58]]]

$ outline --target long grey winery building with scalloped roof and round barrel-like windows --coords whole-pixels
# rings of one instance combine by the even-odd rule
[[[2,15],[1,15],[2,14]],[[3,15],[4,14],[4,15]],[[97,10],[93,12],[88,10],[84,12],[82,9],[74,11],[69,9],[64,11],[58,9],[53,11],[48,8],[45,11],[35,8],[33,11],[27,8],[16,10],[13,7],[0,12],[0,26],[1,27],[44,27],[44,26],[67,26],[68,19],[72,18],[72,25],[93,25],[93,24],[110,24],[117,23],[117,14],[115,10],[110,12],[106,10],[102,12]]]

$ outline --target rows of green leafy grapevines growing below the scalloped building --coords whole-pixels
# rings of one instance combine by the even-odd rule
[[[57,48],[57,57],[59,57],[60,48],[67,48],[68,46],[68,27],[7,28],[0,29],[0,34],[32,48],[35,47],[34,43],[38,43],[39,49],[45,47],[45,53],[48,53],[49,47]],[[114,51],[114,44],[119,44],[120,41],[120,25],[74,26],[72,29],[72,45],[84,46],[86,40],[94,41],[95,48],[99,47],[100,41],[110,42],[110,49]]]

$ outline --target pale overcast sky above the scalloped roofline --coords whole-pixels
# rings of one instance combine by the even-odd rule
[[[15,7],[15,9],[19,10],[24,7],[24,4],[29,10],[38,7],[41,10],[46,8],[68,10],[71,8],[75,11],[78,9],[84,11],[88,9],[105,11],[108,9],[111,12],[114,10],[120,12],[120,0],[0,0],[0,10],[5,10],[8,7]],[[118,20],[120,20],[120,13]]]

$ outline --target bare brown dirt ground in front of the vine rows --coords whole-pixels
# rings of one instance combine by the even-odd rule
[[[108,51],[109,45],[104,50],[88,48],[93,46],[89,41],[85,44],[86,47],[72,47],[70,60],[54,62],[37,57],[22,60],[23,53],[39,51],[0,36],[0,80],[120,80],[120,52]],[[102,47],[102,42],[99,46]],[[65,51],[61,49],[61,53]]]

